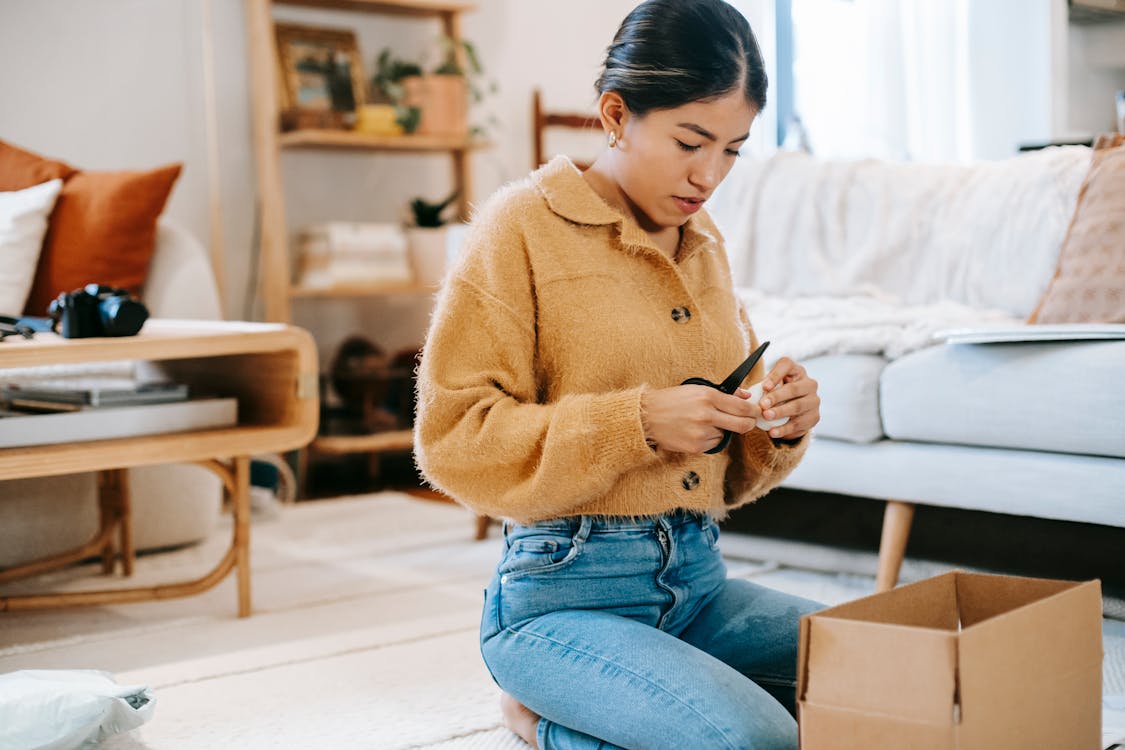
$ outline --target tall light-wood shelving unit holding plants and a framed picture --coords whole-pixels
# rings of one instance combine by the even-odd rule
[[[300,129],[280,132],[281,108],[278,100],[279,65],[274,35],[274,6],[302,6],[366,15],[390,15],[438,19],[446,36],[459,42],[461,13],[474,9],[470,2],[451,0],[245,0],[249,34],[250,75],[253,96],[253,130],[260,199],[259,295],[264,302],[264,318],[289,323],[297,299],[361,298],[387,295],[433,295],[436,290],[421,284],[341,284],[330,288],[304,287],[292,281],[289,227],[286,223],[281,159],[286,152],[304,150],[423,153],[448,155],[451,182],[458,192],[458,209],[467,218],[471,200],[470,162],[472,151],[488,144],[467,138],[426,135],[379,136],[349,130]],[[459,46],[459,45],[458,45]],[[407,198],[403,197],[404,200]],[[408,451],[413,448],[408,431],[371,435],[322,435],[310,445],[313,454]]]

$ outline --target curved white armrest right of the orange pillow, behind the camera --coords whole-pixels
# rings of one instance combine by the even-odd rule
[[[187,229],[162,219],[144,286],[154,318],[218,320],[223,307],[207,250]]]

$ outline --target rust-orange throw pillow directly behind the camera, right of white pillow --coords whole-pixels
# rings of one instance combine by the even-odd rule
[[[66,180],[25,313],[46,315],[60,292],[94,281],[137,293],[156,246],[156,219],[181,169],[79,172]]]

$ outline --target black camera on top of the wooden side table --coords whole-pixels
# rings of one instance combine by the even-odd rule
[[[58,295],[47,314],[63,338],[134,336],[148,319],[148,308],[128,291],[98,283]]]

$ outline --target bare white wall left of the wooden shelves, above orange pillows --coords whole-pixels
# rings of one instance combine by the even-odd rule
[[[182,162],[165,215],[209,242],[199,0],[0,0],[0,138],[91,170]],[[227,313],[245,286],[253,161],[242,3],[214,3]]]

